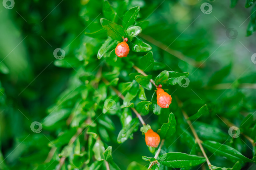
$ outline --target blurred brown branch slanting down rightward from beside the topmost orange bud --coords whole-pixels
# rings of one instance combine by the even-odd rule
[[[180,51],[171,49],[167,45],[155,40],[154,38],[152,38],[148,35],[139,34],[139,36],[142,37],[143,39],[147,40],[148,42],[154,44],[156,47],[161,48],[162,50],[168,52],[169,54],[172,54],[173,56],[177,57],[178,59],[185,61],[186,63],[188,63],[194,67],[202,67],[203,66],[203,64],[201,62],[197,62],[192,58],[186,57]]]

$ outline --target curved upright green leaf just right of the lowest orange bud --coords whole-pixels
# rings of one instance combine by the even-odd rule
[[[160,135],[161,139],[166,139],[171,137],[176,131],[176,120],[173,113],[170,113],[168,122],[164,123],[157,133]]]

